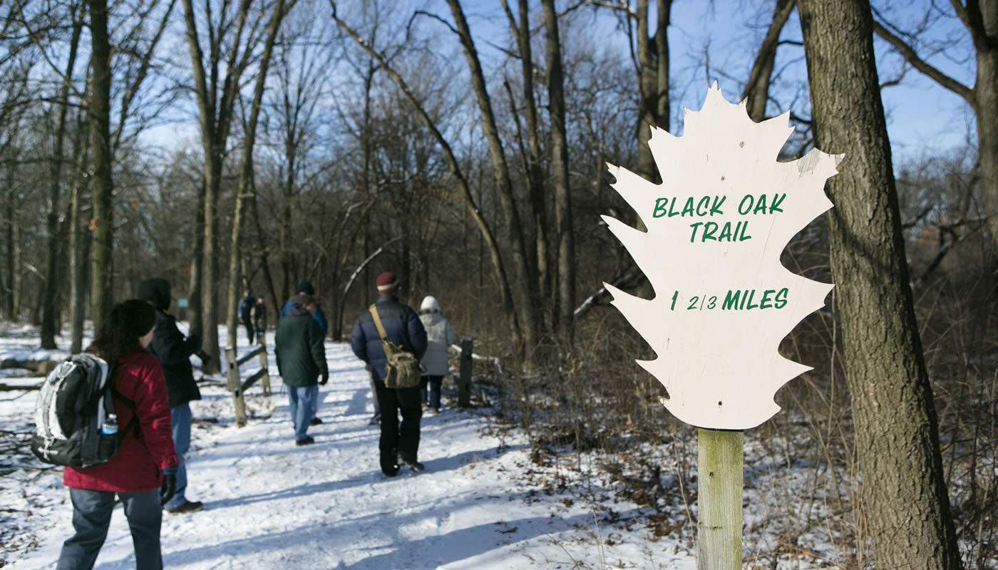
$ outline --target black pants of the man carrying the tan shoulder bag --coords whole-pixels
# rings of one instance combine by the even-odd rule
[[[374,382],[374,385],[381,405],[381,439],[378,442],[381,471],[394,475],[398,471],[396,453],[408,461],[415,461],[419,452],[419,420],[423,416],[419,386],[387,388],[384,382]],[[402,412],[401,425],[398,412]]]

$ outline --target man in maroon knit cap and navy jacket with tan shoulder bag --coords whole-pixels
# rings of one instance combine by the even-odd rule
[[[426,330],[412,307],[402,304],[395,296],[398,278],[385,272],[377,278],[379,296],[374,304],[385,335],[391,342],[415,354],[426,351]],[[411,388],[388,388],[384,385],[386,356],[381,335],[366,308],[357,317],[350,334],[350,347],[358,358],[370,365],[377,399],[381,405],[381,438],[378,441],[381,472],[388,477],[398,473],[398,466],[405,465],[419,472],[423,464],[417,460],[419,451],[419,420],[423,410],[419,405],[419,385]],[[398,413],[402,423],[398,423]]]

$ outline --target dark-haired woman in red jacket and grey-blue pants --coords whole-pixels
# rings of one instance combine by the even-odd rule
[[[135,410],[115,398],[118,425],[127,429],[118,452],[107,463],[85,469],[66,467],[63,483],[73,501],[76,534],[63,543],[59,570],[89,570],[108,536],[115,494],[121,498],[135,545],[138,570],[163,568],[160,553],[161,500],[169,499],[170,480],[163,469],[177,465],[170,430],[170,404],[160,361],[146,352],[153,337],[156,311],[144,300],[130,299],[111,309],[88,351],[115,362],[114,388],[135,402]],[[161,485],[163,487],[161,497]]]

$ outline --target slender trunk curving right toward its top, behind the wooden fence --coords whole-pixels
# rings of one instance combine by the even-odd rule
[[[296,0],[290,0],[287,10],[294,6]],[[263,86],[266,81],[266,72],[270,66],[270,57],[273,54],[273,44],[277,38],[277,30],[284,19],[286,10],[284,0],[277,0],[273,8],[273,15],[270,18],[269,29],[267,30],[266,43],[263,46],[263,53],[260,56],[259,68],[256,71],[256,85],[253,89],[252,102],[250,103],[250,121],[246,127],[246,138],[243,141],[243,161],[240,168],[240,181],[236,188],[236,212],[233,215],[233,235],[230,242],[229,251],[229,305],[226,324],[228,328],[228,346],[236,348],[236,339],[239,333],[239,315],[237,305],[240,299],[240,254],[242,253],[241,241],[243,230],[243,206],[246,203],[244,197],[252,199],[254,197],[254,186],[252,184],[252,150],[256,142],[256,123],[259,118],[259,108],[263,101]],[[249,285],[247,285],[249,289]]]

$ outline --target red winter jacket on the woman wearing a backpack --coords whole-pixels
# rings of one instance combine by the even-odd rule
[[[118,361],[112,381],[118,393],[135,402],[142,435],[136,437],[134,426],[125,430],[132,420],[132,409],[115,398],[118,429],[124,433],[118,452],[107,463],[94,467],[66,467],[63,484],[77,489],[125,493],[158,489],[160,471],[178,464],[163,367],[148,352],[130,354]]]

